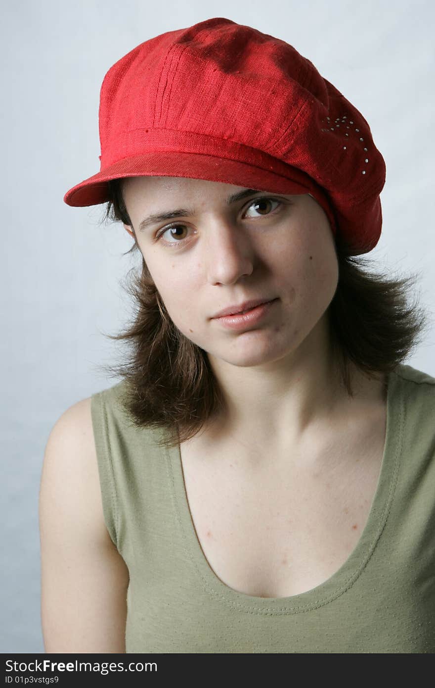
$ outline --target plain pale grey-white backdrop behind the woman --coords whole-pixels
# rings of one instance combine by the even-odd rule
[[[383,231],[370,257],[434,281],[434,8],[432,0],[21,1],[3,3],[3,623],[0,652],[43,652],[38,488],[54,422],[118,381],[115,334],[129,315],[120,280],[139,256],[104,206],[70,208],[65,192],[98,172],[104,74],[166,31],[226,17],[311,59],[364,114],[387,166]],[[435,376],[435,334],[407,363]]]

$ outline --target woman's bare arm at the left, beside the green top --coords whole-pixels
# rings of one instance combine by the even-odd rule
[[[90,398],[49,435],[39,523],[45,652],[125,652],[129,571],[104,524]]]

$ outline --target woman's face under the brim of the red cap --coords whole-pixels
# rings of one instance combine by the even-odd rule
[[[211,359],[254,366],[293,354],[322,329],[338,264],[331,226],[313,197],[260,191],[227,203],[243,191],[206,180],[135,177],[125,182],[124,201],[176,327]],[[150,215],[175,210],[140,229]],[[250,299],[275,301],[236,330],[214,318]]]

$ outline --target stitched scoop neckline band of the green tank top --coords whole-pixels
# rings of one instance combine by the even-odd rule
[[[361,536],[350,555],[326,581],[311,590],[287,597],[259,597],[239,592],[226,585],[205,557],[194,527],[184,482],[180,445],[166,449],[168,471],[177,519],[186,553],[196,570],[203,590],[232,608],[256,614],[295,614],[306,612],[337,599],[357,581],[372,556],[390,512],[399,471],[403,444],[404,402],[400,365],[387,374],[386,438],[375,494]],[[397,371],[397,372],[396,372]]]

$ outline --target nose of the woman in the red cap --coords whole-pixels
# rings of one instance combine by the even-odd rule
[[[254,269],[254,246],[247,230],[220,219],[208,228],[205,264],[210,284],[233,284]]]

